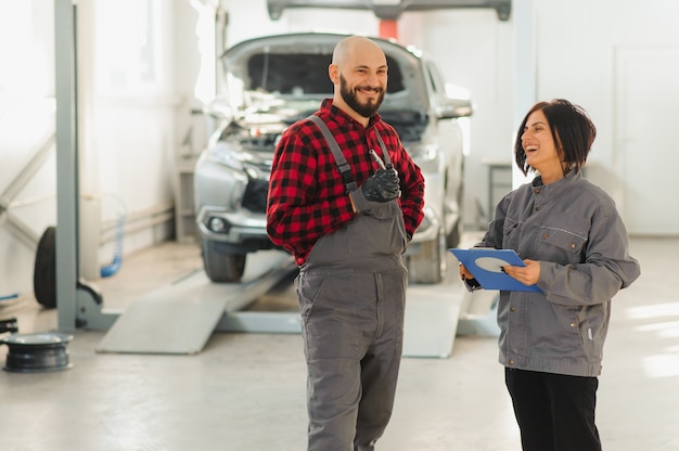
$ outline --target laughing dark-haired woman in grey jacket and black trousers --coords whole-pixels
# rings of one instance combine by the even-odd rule
[[[598,376],[611,299],[640,274],[611,196],[581,169],[597,136],[587,113],[556,99],[526,114],[514,145],[526,183],[507,194],[476,246],[514,249],[503,270],[541,292],[500,292],[500,363],[525,451],[599,451]],[[477,282],[464,266],[467,287]]]

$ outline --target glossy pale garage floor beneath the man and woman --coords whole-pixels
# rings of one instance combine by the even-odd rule
[[[598,424],[611,451],[679,450],[679,239],[635,239],[641,279],[614,300]],[[197,246],[166,243],[127,257],[100,287],[126,302],[189,271]],[[451,279],[443,293],[459,294]],[[113,300],[107,300],[113,299]],[[3,301],[20,332],[56,327],[29,297]],[[177,324],[177,327],[181,327]],[[76,331],[74,366],[0,371],[3,451],[300,451],[305,364],[299,335],[214,333],[193,356],[95,352],[105,331]],[[5,361],[7,347],[0,346]],[[496,337],[458,336],[449,358],[405,358],[384,451],[520,450]],[[332,450],[329,450],[332,451]]]

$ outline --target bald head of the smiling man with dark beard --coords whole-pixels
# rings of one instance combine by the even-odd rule
[[[387,65],[382,48],[362,36],[344,38],[332,54],[333,105],[363,125],[377,112],[386,92]]]

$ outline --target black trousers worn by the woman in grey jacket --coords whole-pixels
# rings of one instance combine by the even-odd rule
[[[524,451],[601,451],[597,377],[504,370]]]

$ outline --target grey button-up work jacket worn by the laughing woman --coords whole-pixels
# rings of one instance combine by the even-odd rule
[[[611,299],[640,274],[611,196],[579,172],[547,185],[538,176],[504,196],[476,246],[540,261],[543,293],[500,292],[500,363],[601,374]]]

